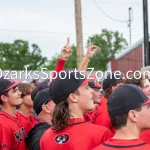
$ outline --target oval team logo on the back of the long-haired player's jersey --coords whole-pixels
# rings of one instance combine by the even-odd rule
[[[64,144],[69,141],[70,137],[68,134],[59,134],[56,136],[55,141],[58,144]]]

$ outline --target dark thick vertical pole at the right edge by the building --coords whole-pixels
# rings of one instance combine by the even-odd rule
[[[144,54],[145,66],[150,65],[149,33],[148,33],[148,2],[143,0]]]

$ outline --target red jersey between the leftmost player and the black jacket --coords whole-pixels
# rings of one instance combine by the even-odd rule
[[[24,116],[20,112],[16,112],[16,115],[19,116],[20,122],[22,126],[25,128],[26,135],[38,123],[38,120],[32,114],[29,116]]]

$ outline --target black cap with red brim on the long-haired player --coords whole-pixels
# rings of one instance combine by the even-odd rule
[[[58,104],[66,100],[69,94],[75,92],[81,85],[87,84],[94,78],[95,74],[86,77],[77,71],[60,72],[49,86],[51,98],[55,104]]]

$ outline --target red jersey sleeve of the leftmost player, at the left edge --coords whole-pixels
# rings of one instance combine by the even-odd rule
[[[12,149],[12,138],[13,133],[9,126],[0,124],[0,149],[8,150]]]

